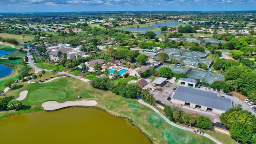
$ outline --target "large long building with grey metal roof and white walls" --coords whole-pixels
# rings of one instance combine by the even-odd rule
[[[178,86],[172,96],[172,103],[200,108],[215,114],[222,114],[233,108],[232,99],[218,96],[217,93]]]

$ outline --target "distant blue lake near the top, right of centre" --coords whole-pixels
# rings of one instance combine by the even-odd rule
[[[159,26],[162,27],[162,26],[180,26],[180,25],[183,25],[183,23],[178,23],[171,20],[171,21],[166,21],[166,23],[155,23],[154,26],[128,28],[128,29],[125,29],[124,31],[145,31],[145,30],[150,30],[151,28],[158,28]]]

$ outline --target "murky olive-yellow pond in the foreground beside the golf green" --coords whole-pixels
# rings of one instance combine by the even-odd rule
[[[2,144],[150,144],[128,121],[93,108],[65,108],[0,121]]]

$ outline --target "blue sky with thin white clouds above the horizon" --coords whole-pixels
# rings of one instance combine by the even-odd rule
[[[0,12],[256,10],[256,0],[0,0]]]

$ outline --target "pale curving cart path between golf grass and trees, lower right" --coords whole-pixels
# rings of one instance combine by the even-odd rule
[[[183,127],[183,126],[180,126],[178,124],[175,124],[173,122],[171,122],[168,118],[166,118],[161,112],[159,112],[156,108],[154,108],[153,106],[147,104],[146,102],[144,102],[142,99],[140,98],[137,98],[138,102],[140,102],[141,104],[145,105],[145,106],[148,106],[149,108],[151,108],[152,110],[154,110],[154,112],[156,112],[159,116],[161,116],[168,124],[176,127],[176,128],[180,128],[182,130],[187,130],[189,132],[193,132],[194,130],[192,130],[191,128],[186,128],[186,127]],[[197,133],[199,134],[199,133]],[[201,134],[200,134],[201,135]],[[204,134],[202,136],[205,136],[207,138],[209,138],[210,140],[214,141],[216,144],[222,144],[220,141],[218,141],[216,138],[208,135],[208,134]]]

